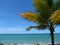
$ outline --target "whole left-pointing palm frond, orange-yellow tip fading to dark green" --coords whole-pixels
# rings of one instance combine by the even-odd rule
[[[39,16],[39,15],[34,14],[32,12],[26,12],[24,14],[21,14],[21,16],[27,20],[32,21],[32,22],[41,23],[41,24],[46,23],[46,20],[42,16]]]

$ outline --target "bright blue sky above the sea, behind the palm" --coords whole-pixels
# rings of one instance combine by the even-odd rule
[[[36,25],[18,15],[27,11],[35,11],[32,0],[0,0],[0,34],[49,33],[48,30],[26,31],[27,27]],[[60,28],[56,29],[56,33],[60,33]]]

